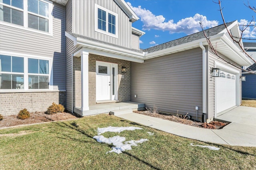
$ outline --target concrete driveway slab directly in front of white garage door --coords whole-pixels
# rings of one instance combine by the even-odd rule
[[[238,106],[216,119],[256,126],[256,107]]]

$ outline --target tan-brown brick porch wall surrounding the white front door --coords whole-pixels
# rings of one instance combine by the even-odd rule
[[[118,64],[118,100],[120,102],[130,101],[130,61],[89,54],[89,105],[96,104],[96,61]],[[122,66],[127,68],[126,73],[121,72]],[[74,106],[81,106],[80,57],[73,58],[73,88]]]

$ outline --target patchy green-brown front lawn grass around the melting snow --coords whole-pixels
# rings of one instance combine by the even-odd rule
[[[92,139],[98,127],[136,126],[141,130],[107,132],[127,140],[148,139],[121,154],[109,153],[112,145]],[[152,132],[150,136],[147,132]],[[0,130],[1,170],[252,170],[256,169],[256,147],[205,143],[158,131],[110,115],[71,121],[28,125]],[[194,145],[210,145],[209,150]]]

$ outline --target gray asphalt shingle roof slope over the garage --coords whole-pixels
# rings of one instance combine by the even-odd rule
[[[231,25],[234,21],[232,22],[229,22],[229,23],[226,23],[227,26]],[[212,27],[210,29],[206,29],[205,32],[206,32],[206,35],[209,35],[209,36],[212,36],[212,35],[216,35],[218,33],[220,33],[221,31],[223,31],[225,28],[225,25],[222,24],[222,25],[218,25],[216,27]],[[154,47],[150,47],[148,49],[144,49],[143,51],[145,52],[148,52],[148,53],[152,53],[154,51],[159,51],[159,50],[162,50],[162,49],[166,49],[166,48],[169,48],[169,47],[174,47],[176,45],[180,45],[180,44],[184,44],[184,43],[188,43],[188,42],[191,42],[191,41],[195,41],[197,39],[201,39],[201,38],[204,38],[204,33],[203,31],[200,31],[198,33],[194,33],[194,34],[191,34],[191,35],[188,35],[186,37],[182,37],[182,38],[179,38],[179,39],[175,39],[173,41],[169,41],[167,43],[163,43],[163,44],[160,44],[160,45],[156,45]]]

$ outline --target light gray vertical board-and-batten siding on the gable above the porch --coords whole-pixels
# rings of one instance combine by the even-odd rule
[[[118,38],[94,31],[94,4],[118,14]],[[114,0],[73,0],[72,33],[131,48],[132,23]]]

